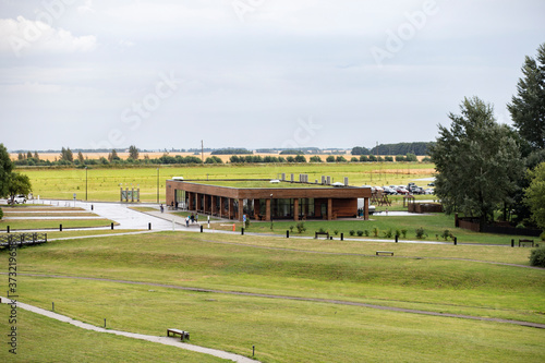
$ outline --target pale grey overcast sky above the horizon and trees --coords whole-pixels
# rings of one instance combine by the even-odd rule
[[[434,141],[463,97],[510,123],[543,0],[0,0],[8,149]]]

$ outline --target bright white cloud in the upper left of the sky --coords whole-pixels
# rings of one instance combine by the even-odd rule
[[[63,28],[23,16],[0,20],[0,52],[16,57],[44,52],[87,52],[97,47],[94,35],[74,36]]]

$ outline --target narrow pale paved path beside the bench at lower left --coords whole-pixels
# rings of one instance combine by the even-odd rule
[[[5,304],[10,303],[10,301],[7,298],[0,297],[0,299],[2,300],[2,303],[5,303]],[[17,302],[16,305],[17,305],[17,308],[23,308],[23,310],[26,310],[26,311],[29,311],[29,312],[33,312],[36,314],[40,314],[40,315],[60,320],[60,322],[69,323],[71,325],[74,325],[76,327],[87,329],[87,330],[93,330],[93,331],[98,331],[98,332],[108,332],[108,334],[113,334],[117,336],[123,336],[123,337],[133,338],[133,339],[147,340],[147,341],[152,341],[152,342],[156,342],[156,343],[160,343],[160,344],[165,344],[165,346],[178,347],[181,349],[191,350],[191,351],[194,351],[197,353],[218,356],[218,358],[221,358],[225,360],[230,360],[233,362],[240,362],[240,363],[256,363],[256,362],[258,362],[258,361],[252,360],[252,359],[243,356],[243,355],[225,352],[225,351],[217,350],[217,349],[210,349],[210,348],[204,348],[204,347],[199,347],[199,346],[184,343],[184,342],[181,342],[178,338],[156,337],[156,336],[148,336],[148,335],[144,335],[144,334],[99,328],[99,327],[96,327],[96,326],[87,324],[87,323],[74,320],[73,318],[68,317],[65,315],[57,314],[57,313],[53,313],[53,312],[50,312],[50,311],[47,311],[47,310],[44,310],[40,307],[36,307],[33,305],[28,305],[28,304],[25,304],[22,302]],[[165,330],[167,330],[167,329],[165,329]]]

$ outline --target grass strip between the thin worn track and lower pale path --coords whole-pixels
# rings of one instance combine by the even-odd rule
[[[107,318],[111,329],[156,336],[178,327],[198,346],[245,355],[255,346],[262,362],[545,359],[543,331],[510,324],[102,281],[25,277],[21,286],[26,302],[55,301],[57,312],[96,326]]]

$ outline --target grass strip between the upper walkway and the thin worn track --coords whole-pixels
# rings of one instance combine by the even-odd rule
[[[374,254],[376,246],[360,249],[361,255],[320,254],[310,253],[308,244],[304,246],[307,251],[265,250],[243,243],[204,240],[210,237],[220,238],[164,232],[52,242],[21,250],[21,271],[379,302],[388,306],[420,306],[435,312],[545,323],[545,270],[467,261],[419,259],[414,256],[423,251],[421,245],[392,244],[392,247],[402,249],[396,256],[411,258],[389,258],[365,256]],[[235,237],[231,238],[237,242]],[[263,239],[266,240],[254,238],[255,241]],[[301,240],[284,241],[287,246],[301,249],[298,246]],[[340,241],[338,245],[339,252],[348,249]],[[416,250],[411,251],[412,246]],[[479,255],[472,247],[458,253],[467,251],[469,257]],[[443,257],[445,251],[455,247],[427,249],[429,257]],[[521,252],[512,253],[519,258]]]

